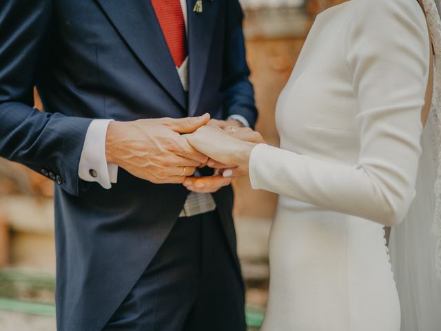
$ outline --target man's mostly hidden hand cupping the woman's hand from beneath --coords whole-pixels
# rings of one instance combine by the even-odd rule
[[[212,119],[208,123],[209,126],[218,127],[232,136],[249,142],[259,141],[263,139],[254,130],[241,126],[240,123],[234,120],[220,121]],[[224,186],[230,185],[234,177],[243,176],[248,173],[248,170],[242,167],[231,168],[230,165],[224,165],[212,159],[209,159],[207,164],[211,168],[215,168],[215,175],[212,177],[188,177],[183,182],[183,185],[192,192],[197,193],[213,193]]]

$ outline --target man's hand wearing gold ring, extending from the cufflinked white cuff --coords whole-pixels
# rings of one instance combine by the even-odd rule
[[[189,145],[181,133],[205,126],[209,114],[185,119],[140,119],[110,123],[107,162],[152,183],[183,183],[208,158]]]

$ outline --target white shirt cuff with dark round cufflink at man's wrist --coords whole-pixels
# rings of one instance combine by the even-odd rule
[[[85,134],[78,174],[83,181],[94,181],[109,189],[118,180],[118,165],[107,163],[105,137],[113,119],[94,119]]]

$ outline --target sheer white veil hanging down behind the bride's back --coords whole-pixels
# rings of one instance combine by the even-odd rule
[[[434,51],[433,101],[421,139],[416,199],[389,241],[401,331],[441,330],[441,3],[422,3]]]

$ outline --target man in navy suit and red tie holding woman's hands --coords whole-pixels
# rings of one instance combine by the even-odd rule
[[[207,112],[254,126],[242,19],[237,0],[2,1],[0,156],[57,184],[59,330],[245,330],[231,179],[183,136]]]

